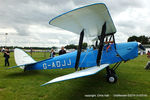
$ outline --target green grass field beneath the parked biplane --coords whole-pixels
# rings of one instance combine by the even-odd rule
[[[46,55],[48,58],[49,54]],[[45,59],[43,53],[33,53],[33,58],[37,61]],[[144,55],[122,63],[116,71],[118,82],[115,84],[106,82],[106,71],[103,70],[93,76],[40,87],[41,84],[55,77],[74,72],[74,69],[29,72],[23,72],[20,68],[7,70],[7,67],[4,67],[4,57],[1,53],[0,100],[148,100],[150,99],[150,71],[144,69],[147,61],[148,58]],[[13,53],[11,53],[10,64],[15,65]],[[92,94],[100,97],[86,97]],[[132,97],[114,97],[115,94],[130,94]],[[140,97],[142,94],[145,97]],[[109,97],[102,97],[102,95],[109,95]]]

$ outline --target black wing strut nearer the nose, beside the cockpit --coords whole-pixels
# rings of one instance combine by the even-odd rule
[[[106,33],[106,22],[102,26],[101,35],[98,36],[98,39],[100,40],[100,44],[99,44],[99,49],[98,49],[98,54],[97,54],[97,66],[100,65],[102,50],[103,50],[103,47],[104,47],[105,33]]]

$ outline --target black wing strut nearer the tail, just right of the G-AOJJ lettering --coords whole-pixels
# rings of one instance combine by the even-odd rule
[[[84,38],[84,29],[80,33],[80,40],[79,40],[76,63],[75,63],[75,70],[76,71],[78,70],[78,67],[79,67],[79,61],[80,61],[80,55],[81,55],[81,51],[82,51],[83,38]]]

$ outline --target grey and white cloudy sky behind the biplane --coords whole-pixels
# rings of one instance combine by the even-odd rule
[[[78,35],[48,22],[59,14],[92,3],[105,3],[108,7],[117,29],[117,42],[126,42],[132,35],[150,37],[150,0],[0,0],[0,46],[77,44]]]

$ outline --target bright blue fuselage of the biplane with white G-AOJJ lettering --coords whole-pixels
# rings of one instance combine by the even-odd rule
[[[97,53],[97,49],[87,49],[86,51],[83,51],[81,53],[79,67],[96,66]],[[76,56],[77,51],[56,56],[27,67],[26,70],[74,68]],[[105,45],[103,48],[101,64],[114,64],[117,62],[134,59],[137,56],[137,42],[116,43],[116,49],[114,44]]]

